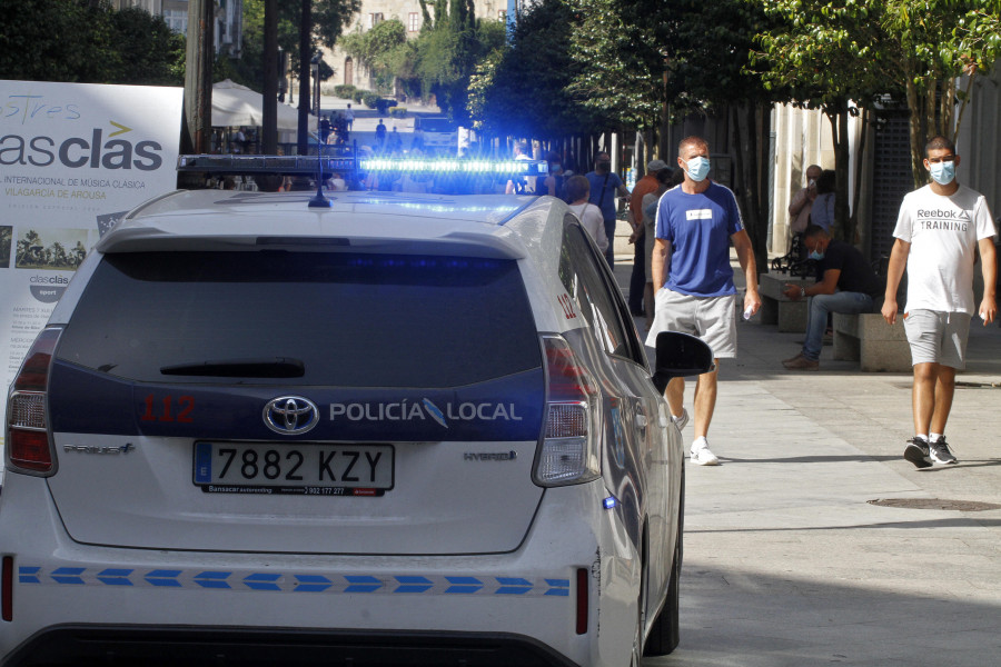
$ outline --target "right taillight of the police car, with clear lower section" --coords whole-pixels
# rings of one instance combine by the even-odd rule
[[[581,484],[602,474],[602,411],[597,382],[561,336],[544,336],[546,429],[536,460],[542,486]]]

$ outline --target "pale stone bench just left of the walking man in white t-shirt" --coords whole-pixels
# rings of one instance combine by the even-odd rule
[[[863,371],[910,371],[911,347],[903,313],[890,326],[879,312],[834,313],[834,358],[859,361]]]

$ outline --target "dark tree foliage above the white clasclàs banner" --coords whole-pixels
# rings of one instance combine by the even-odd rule
[[[180,84],[185,41],[160,17],[85,0],[0,0],[0,78]]]

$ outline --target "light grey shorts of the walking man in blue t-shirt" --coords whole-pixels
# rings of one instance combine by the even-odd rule
[[[692,297],[663,288],[654,297],[654,323],[646,345],[655,347],[661,331],[681,331],[702,339],[716,359],[736,357],[736,295]]]

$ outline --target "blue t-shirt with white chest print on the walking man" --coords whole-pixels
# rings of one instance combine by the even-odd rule
[[[730,188],[710,182],[705,192],[686,195],[677,186],[657,207],[657,238],[671,241],[666,287],[695,297],[736,293],[730,266],[730,237],[744,229]]]

